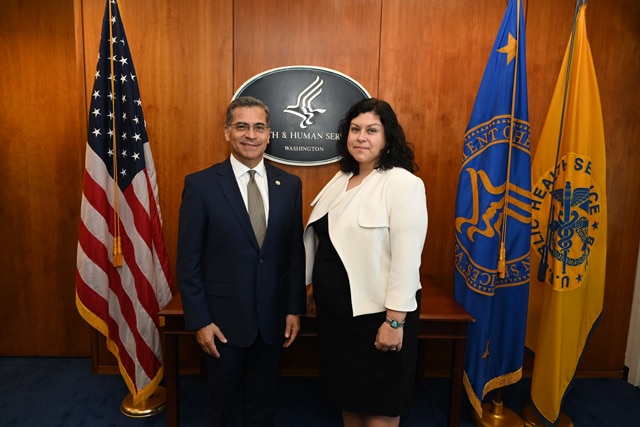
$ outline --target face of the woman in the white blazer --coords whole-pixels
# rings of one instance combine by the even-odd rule
[[[347,149],[358,162],[360,172],[375,168],[386,145],[384,126],[376,113],[362,113],[351,120]]]

